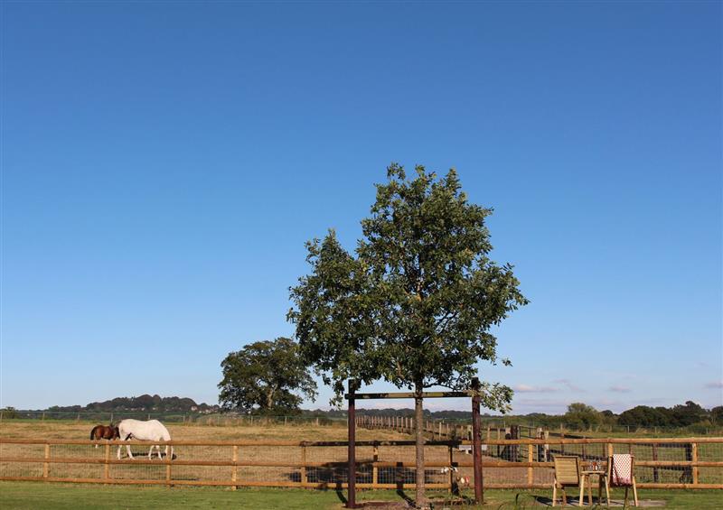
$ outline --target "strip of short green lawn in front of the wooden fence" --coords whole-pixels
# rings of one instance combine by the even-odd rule
[[[514,508],[515,496],[520,495],[524,508],[541,507],[532,496],[549,498],[550,491],[490,490],[485,493],[488,505],[484,508]],[[430,492],[443,505],[445,493]],[[230,491],[206,487],[122,487],[75,484],[42,484],[35,482],[0,482],[0,508],[3,510],[48,509],[116,509],[116,508],[199,508],[199,509],[339,509],[345,493],[303,489],[239,488]],[[408,492],[413,496],[413,492]],[[641,499],[664,500],[666,508],[723,508],[723,490],[712,491],[640,491]],[[614,493],[614,498],[620,497]],[[401,501],[394,491],[362,491],[359,501]],[[569,507],[569,506],[568,506]],[[465,506],[465,508],[472,508]],[[621,508],[621,506],[613,506]]]

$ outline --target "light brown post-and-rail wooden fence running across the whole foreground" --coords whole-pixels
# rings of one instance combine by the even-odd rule
[[[135,459],[117,459],[117,441],[0,438],[0,480],[227,487],[344,488],[346,441],[164,441],[175,459],[148,459],[147,441],[126,441]],[[414,441],[357,441],[357,487],[414,487]],[[472,476],[469,440],[427,441],[427,487],[452,489]],[[99,445],[100,448],[92,448]],[[142,447],[142,450],[141,450]],[[137,451],[136,451],[137,450]],[[123,449],[125,452],[125,447]],[[163,451],[163,448],[162,448]],[[506,452],[502,454],[502,452]],[[723,438],[485,440],[484,487],[549,488],[551,455],[583,464],[635,455],[640,488],[723,488]],[[457,471],[443,468],[454,466]]]

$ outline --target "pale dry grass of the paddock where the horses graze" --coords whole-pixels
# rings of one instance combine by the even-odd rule
[[[69,439],[87,440],[93,423],[87,422],[24,422],[5,421],[0,423],[0,437],[5,439]],[[168,423],[168,430],[174,440],[190,441],[216,441],[216,440],[252,440],[263,442],[287,440],[287,441],[345,441],[347,430],[343,424],[339,426],[315,426],[304,425],[197,425]],[[357,431],[357,440],[410,440],[408,434],[396,431],[366,430]],[[307,468],[307,480],[312,483],[335,483],[346,479],[345,461],[347,449],[342,447],[307,447],[302,449],[298,446],[244,446],[238,449],[239,461],[271,461],[277,463],[296,464],[302,463],[305,450],[307,462],[323,464],[318,468]],[[116,446],[111,447],[111,458],[116,457]],[[147,449],[140,446],[133,447],[134,456],[144,458]],[[177,446],[175,447],[177,459],[183,460],[231,460],[233,450],[230,446]],[[0,455],[3,457],[23,457],[42,459],[44,446],[41,445],[0,445]],[[125,458],[125,447],[122,450]],[[371,462],[373,449],[371,447],[359,447],[358,459],[360,463]],[[93,448],[89,445],[52,445],[52,458],[88,458],[103,459],[105,448]],[[155,457],[154,457],[155,459]],[[414,447],[380,447],[380,460],[413,462]],[[430,448],[427,452],[428,461],[446,462],[448,452],[446,448]],[[104,467],[94,464],[74,463],[51,463],[49,464],[50,477],[59,478],[103,478]],[[371,467],[360,468],[360,476],[369,478],[360,480],[371,482]],[[427,471],[434,481],[443,482],[446,478],[437,469]],[[232,468],[229,466],[181,466],[174,465],[174,480],[198,480],[198,481],[230,481]],[[239,481],[249,482],[299,482],[302,479],[301,469],[296,467],[239,467],[237,469]],[[413,471],[405,468],[395,471],[394,469],[381,469],[380,483],[393,483],[399,481],[399,477],[409,482],[413,479]],[[0,474],[5,476],[18,477],[42,477],[42,463],[14,463],[0,462]],[[110,478],[126,479],[159,479],[165,478],[165,467],[157,465],[134,465],[132,462],[122,465],[111,465],[109,468]],[[439,479],[437,479],[439,478]],[[431,481],[431,480],[430,480]]]

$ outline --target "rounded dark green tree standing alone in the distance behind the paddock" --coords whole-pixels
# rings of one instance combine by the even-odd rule
[[[221,368],[219,402],[226,410],[296,413],[304,397],[316,397],[316,383],[290,338],[249,344],[230,353]]]

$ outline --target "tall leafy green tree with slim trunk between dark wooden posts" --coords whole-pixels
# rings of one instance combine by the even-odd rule
[[[478,360],[497,361],[493,327],[527,300],[512,266],[488,256],[484,219],[492,209],[469,203],[454,170],[437,178],[418,166],[408,179],[392,164],[387,175],[353,255],[333,231],[306,244],[311,273],[291,288],[288,319],[337,403],[346,379],[383,379],[415,391],[419,425],[422,391],[468,388]],[[487,407],[506,411],[512,390],[484,383],[482,396]],[[418,427],[418,504],[423,466]]]

